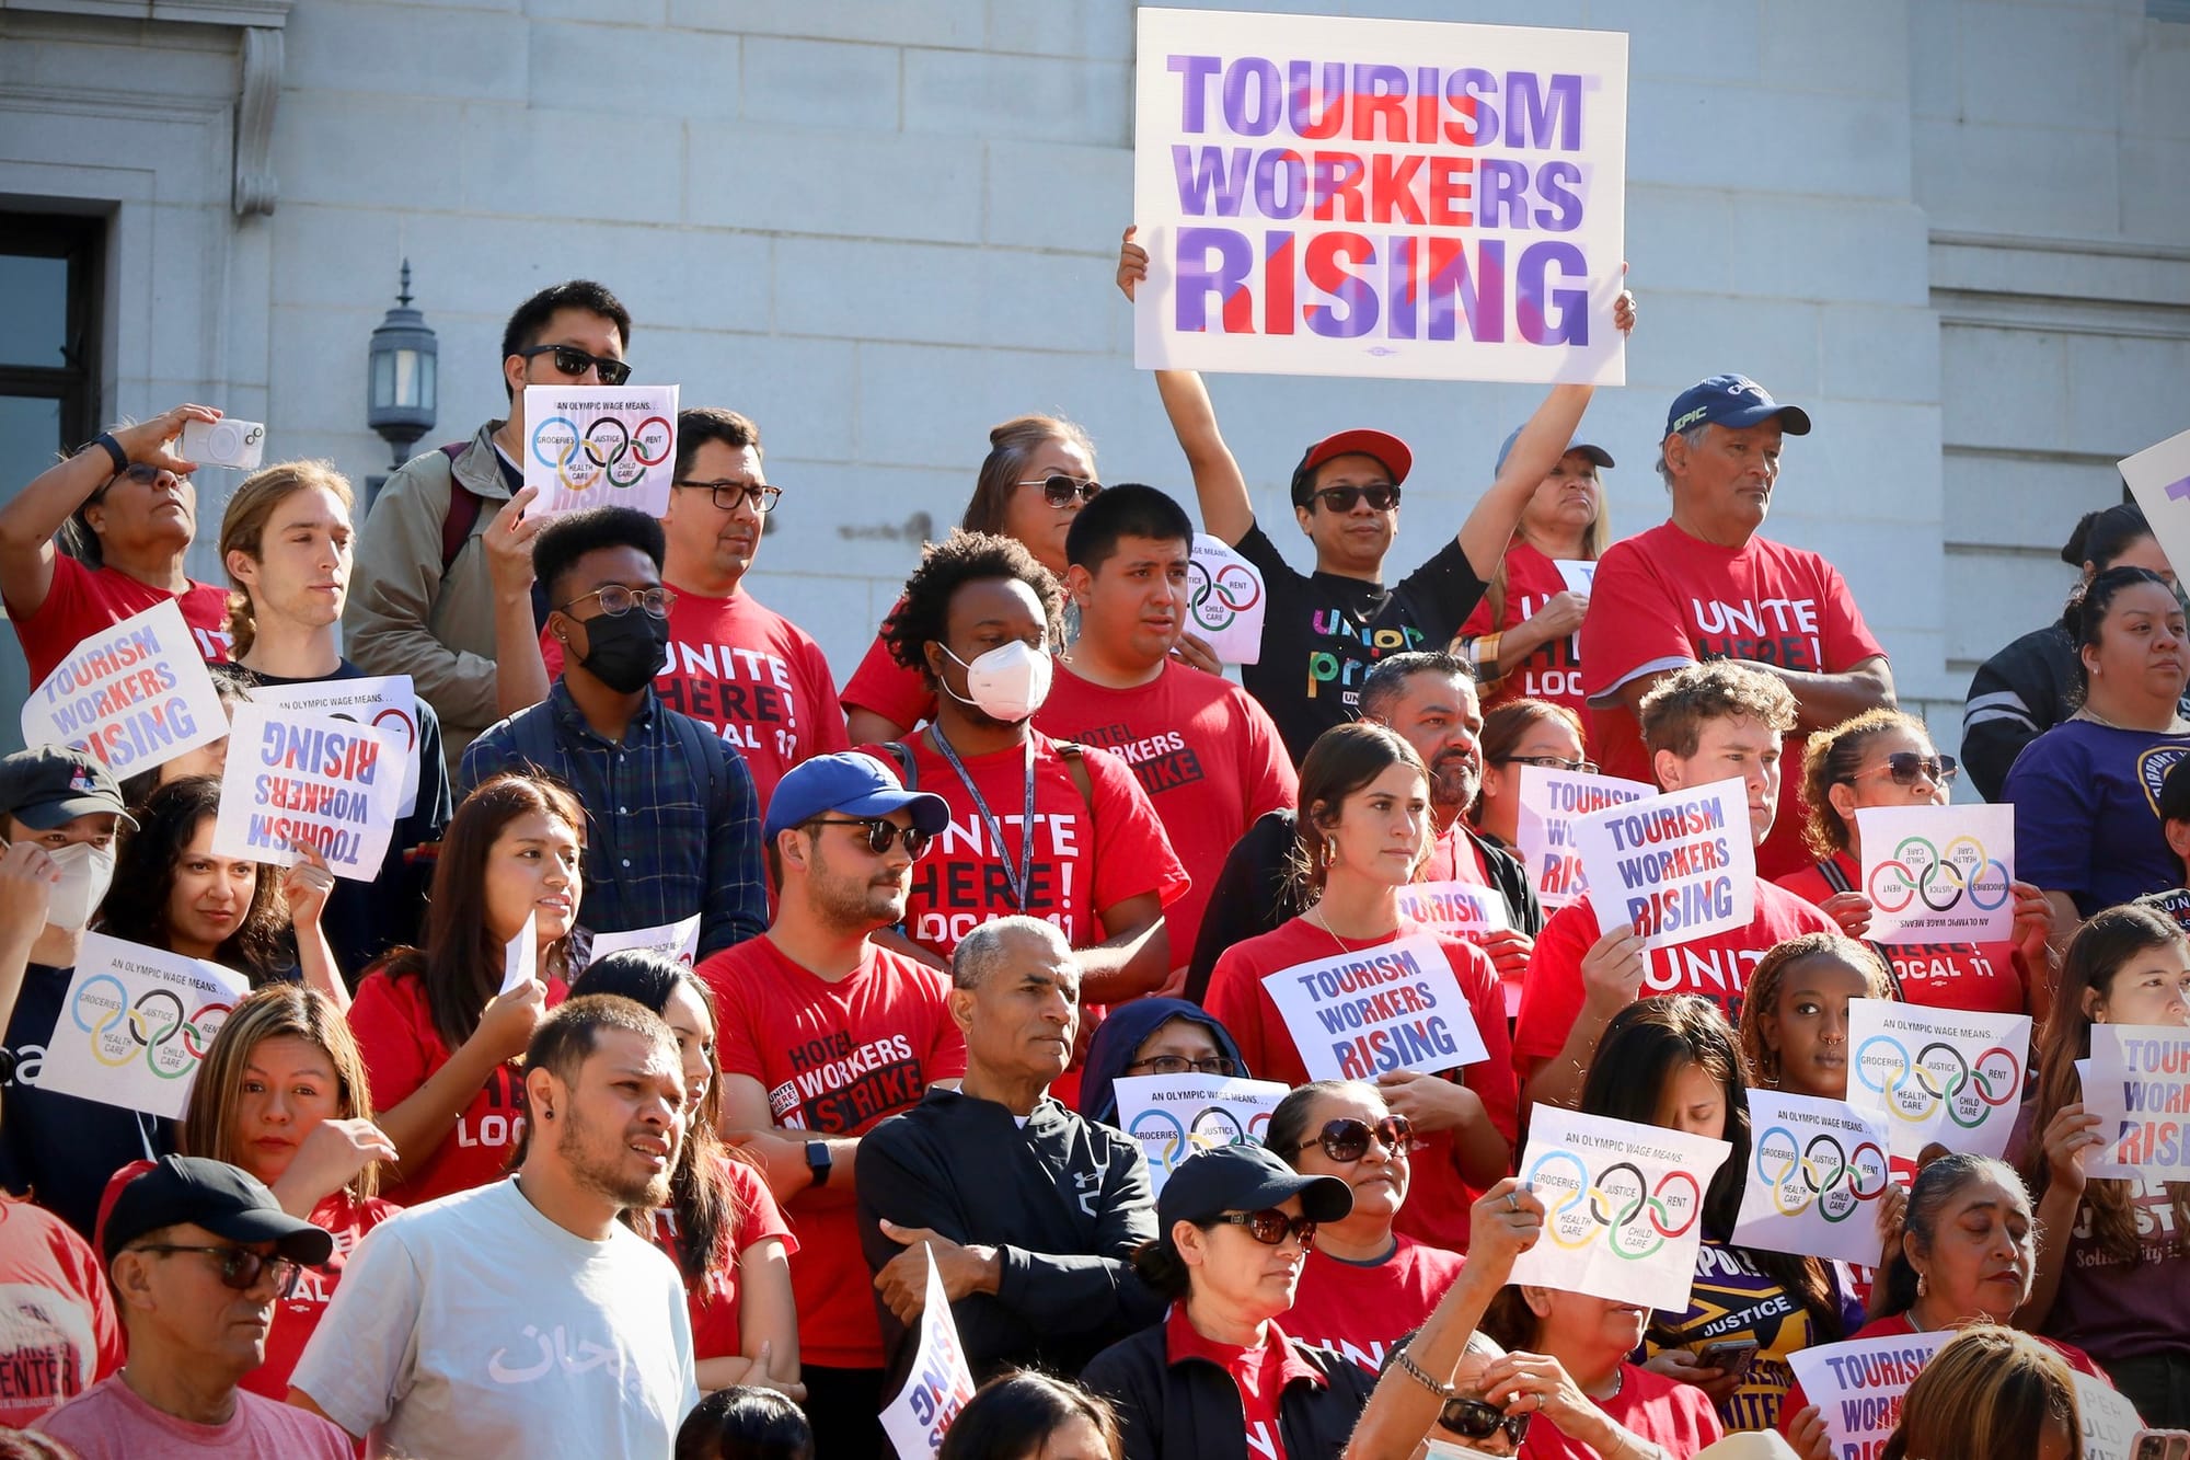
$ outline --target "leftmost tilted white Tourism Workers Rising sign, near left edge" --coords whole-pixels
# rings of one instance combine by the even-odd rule
[[[228,712],[169,598],[92,634],[22,702],[24,745],[96,756],[136,776],[228,734]]]

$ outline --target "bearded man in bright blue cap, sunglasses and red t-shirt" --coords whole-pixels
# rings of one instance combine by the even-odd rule
[[[856,752],[797,765],[769,800],[775,923],[699,967],[716,997],[723,1129],[797,1223],[799,1379],[821,1456],[889,1453],[883,1333],[852,1210],[861,1138],[966,1072],[942,973],[876,943],[904,919],[942,796]]]

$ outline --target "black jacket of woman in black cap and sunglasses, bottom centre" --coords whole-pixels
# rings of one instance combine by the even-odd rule
[[[1323,1375],[1323,1383],[1294,1379],[1277,1396],[1286,1460],[1338,1460],[1375,1375],[1329,1348],[1286,1342]],[[1161,1324],[1095,1355],[1080,1379],[1117,1405],[1126,1460],[1248,1460],[1240,1385],[1209,1359],[1167,1364]]]

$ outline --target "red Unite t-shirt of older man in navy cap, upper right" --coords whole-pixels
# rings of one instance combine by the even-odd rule
[[[1719,548],[1671,522],[1653,526],[1605,550],[1590,603],[1618,609],[1581,620],[1583,686],[1594,710],[1590,745],[1607,776],[1629,780],[1656,780],[1642,728],[1618,702],[1629,680],[1697,660],[1837,675],[1886,653],[1829,561],[1763,537]],[[1805,737],[1791,734],[1783,745],[1780,805],[1772,835],[1756,848],[1759,877],[1783,877],[1809,862],[1800,796]]]

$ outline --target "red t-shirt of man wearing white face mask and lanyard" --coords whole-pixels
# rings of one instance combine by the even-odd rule
[[[1108,750],[1082,752],[1095,802],[1091,807],[1064,756],[1053,750],[1056,741],[1040,730],[1029,734],[1038,831],[1025,912],[1056,923],[1073,947],[1088,947],[1108,936],[1102,914],[1128,897],[1156,892],[1165,905],[1176,903],[1187,890],[1187,872],[1132,769]],[[977,925],[1021,912],[1012,901],[1005,866],[1016,875],[1025,855],[1021,822],[1027,820],[1027,752],[1012,745],[986,756],[959,756],[1003,829],[1003,846],[992,848],[981,811],[950,763],[926,734],[904,743],[913,748],[918,787],[950,802],[950,824],[913,864],[904,929],[913,943],[948,958]],[[880,745],[865,750],[883,765],[900,765]]]

